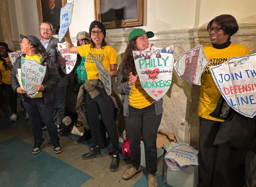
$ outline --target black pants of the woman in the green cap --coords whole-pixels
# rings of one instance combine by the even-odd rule
[[[156,137],[161,119],[162,113],[156,115],[154,103],[142,109],[129,106],[129,116],[124,117],[125,129],[130,138],[131,163],[136,168],[140,166],[140,135],[142,131],[146,171],[150,174],[157,171]]]

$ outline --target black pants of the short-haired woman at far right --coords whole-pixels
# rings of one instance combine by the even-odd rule
[[[243,183],[243,150],[213,145],[221,122],[200,117],[198,186],[240,187]]]

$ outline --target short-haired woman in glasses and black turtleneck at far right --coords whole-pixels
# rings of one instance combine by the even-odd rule
[[[224,63],[232,57],[249,55],[249,51],[245,46],[230,42],[230,37],[238,31],[237,21],[231,15],[223,14],[215,17],[208,23],[207,31],[212,44],[204,47],[205,56],[210,64],[202,74],[198,106],[200,116],[198,186],[242,186],[243,179],[240,179],[244,176],[244,167],[240,169],[238,167],[242,151],[229,145],[214,145],[215,137],[224,120],[216,118],[217,116],[212,117],[211,114],[221,94],[214,83],[210,66]]]

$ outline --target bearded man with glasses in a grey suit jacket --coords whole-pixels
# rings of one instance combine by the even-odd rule
[[[65,100],[66,100],[66,89],[68,85],[68,76],[64,74],[61,69],[60,63],[57,60],[58,53],[56,50],[58,39],[52,36],[53,26],[50,22],[43,22],[38,25],[40,36],[42,37],[40,42],[45,47],[46,51],[51,51],[54,57],[55,65],[58,69],[60,75],[60,80],[58,85],[54,88],[54,120],[57,126],[62,122],[65,117]]]

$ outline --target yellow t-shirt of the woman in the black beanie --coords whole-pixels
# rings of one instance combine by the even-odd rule
[[[103,49],[91,48],[90,46],[91,45],[78,46],[77,50],[81,57],[86,57],[84,66],[87,79],[100,79],[93,56],[110,71],[110,64],[117,64],[116,50],[108,45],[104,46]]]

